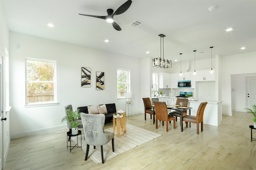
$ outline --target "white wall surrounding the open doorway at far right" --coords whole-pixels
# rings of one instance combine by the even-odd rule
[[[256,73],[256,51],[220,57],[220,81],[222,88],[222,114],[232,115],[231,75]],[[246,108],[246,107],[243,107]]]

